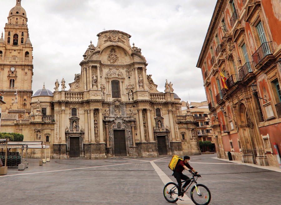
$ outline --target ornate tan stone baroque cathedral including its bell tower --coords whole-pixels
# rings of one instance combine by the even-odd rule
[[[180,98],[166,80],[159,92],[141,49],[116,30],[97,34],[66,90],[55,81],[32,95],[32,44],[21,1],[9,12],[0,39],[1,131],[51,145],[52,158],[157,157],[200,154],[196,121],[181,114]],[[30,157],[41,151],[28,150]]]

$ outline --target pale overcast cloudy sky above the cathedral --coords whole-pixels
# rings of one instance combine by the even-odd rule
[[[120,30],[130,34],[131,46],[141,48],[158,90],[165,79],[184,101],[206,100],[196,63],[216,0],[22,0],[33,46],[33,92],[52,92],[56,78],[68,83],[80,73],[90,41],[97,34]],[[16,0],[0,0],[0,32]]]

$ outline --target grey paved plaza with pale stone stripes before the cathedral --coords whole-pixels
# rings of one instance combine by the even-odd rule
[[[38,159],[27,159],[24,171],[9,168],[7,175],[0,176],[1,201],[9,205],[170,204],[163,197],[164,184],[176,182],[167,167],[170,158],[51,159],[43,166]],[[279,168],[233,163],[214,154],[191,156],[191,166],[202,175],[198,182],[210,189],[211,205],[280,204]],[[193,204],[189,193],[177,204]]]

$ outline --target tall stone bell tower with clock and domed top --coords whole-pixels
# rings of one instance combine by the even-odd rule
[[[21,6],[21,0],[16,1],[8,15],[5,25],[5,37],[0,38],[0,93],[5,99],[5,106],[17,101],[17,108],[30,109],[33,64],[33,47],[29,39],[27,16]],[[17,99],[15,99],[17,93]],[[2,108],[5,110],[5,108]],[[27,111],[28,112],[28,111]]]

